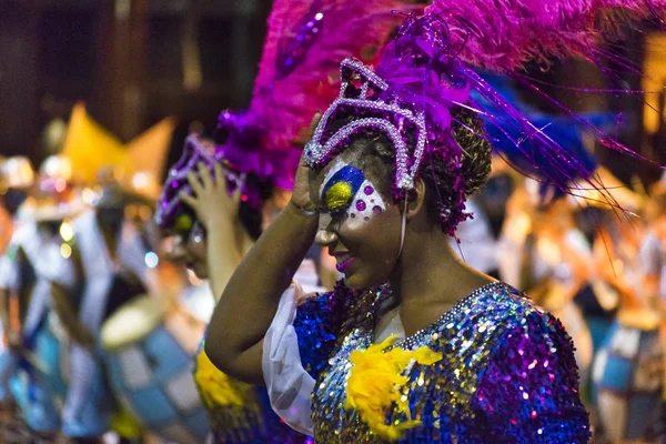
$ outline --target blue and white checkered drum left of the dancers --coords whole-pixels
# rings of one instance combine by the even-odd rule
[[[149,296],[127,303],[102,326],[115,396],[144,427],[170,442],[202,443],[209,431],[191,373],[203,330],[180,303]]]

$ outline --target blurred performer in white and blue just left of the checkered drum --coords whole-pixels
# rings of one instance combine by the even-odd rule
[[[72,222],[72,259],[83,284],[79,293],[62,294],[56,307],[73,340],[62,422],[63,433],[74,442],[97,442],[117,411],[102,370],[101,325],[150,286],[145,243],[134,223],[125,219],[132,199],[115,180],[107,179],[94,210]]]

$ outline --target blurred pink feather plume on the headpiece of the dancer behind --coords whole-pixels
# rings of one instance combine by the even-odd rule
[[[313,9],[313,4],[320,4]],[[340,88],[340,62],[347,57],[366,63],[379,52],[404,17],[393,11],[422,12],[408,0],[276,0],[269,18],[260,71],[248,118],[262,129],[263,148],[294,147],[313,114],[335,99]],[[321,12],[322,27],[304,60],[284,79],[276,61],[281,46],[296,39],[300,23]]]

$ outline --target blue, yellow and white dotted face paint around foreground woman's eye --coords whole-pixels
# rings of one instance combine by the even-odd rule
[[[376,186],[365,179],[363,171],[342,162],[336,162],[324,178],[321,200],[332,213],[344,211],[352,225],[367,222],[373,214],[386,210]]]

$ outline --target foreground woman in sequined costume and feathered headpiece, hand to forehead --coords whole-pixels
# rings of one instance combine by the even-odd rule
[[[376,72],[342,63],[340,98],[305,147],[290,205],[245,255],[209,326],[212,361],[238,377],[265,379],[273,407],[316,441],[589,437],[573,346],[559,322],[447,248],[466,218],[465,199],[490,173],[491,148],[470,89],[501,100],[456,57],[478,61],[491,51],[502,65],[506,53],[493,44],[506,41],[484,33],[492,32],[486,20],[527,40],[558,40],[553,26],[565,20],[536,4],[539,13],[527,17],[537,20],[495,9],[506,3],[474,4],[481,18],[470,2],[450,1],[407,18]],[[511,27],[517,14],[525,19]],[[584,22],[557,24],[587,29],[592,21]],[[545,42],[508,47],[524,60],[524,50]],[[554,148],[543,134],[534,143],[546,153]],[[553,160],[575,161],[557,154]],[[562,173],[566,165],[556,162]],[[297,286],[284,291],[315,239],[336,256],[344,282],[294,314]]]

